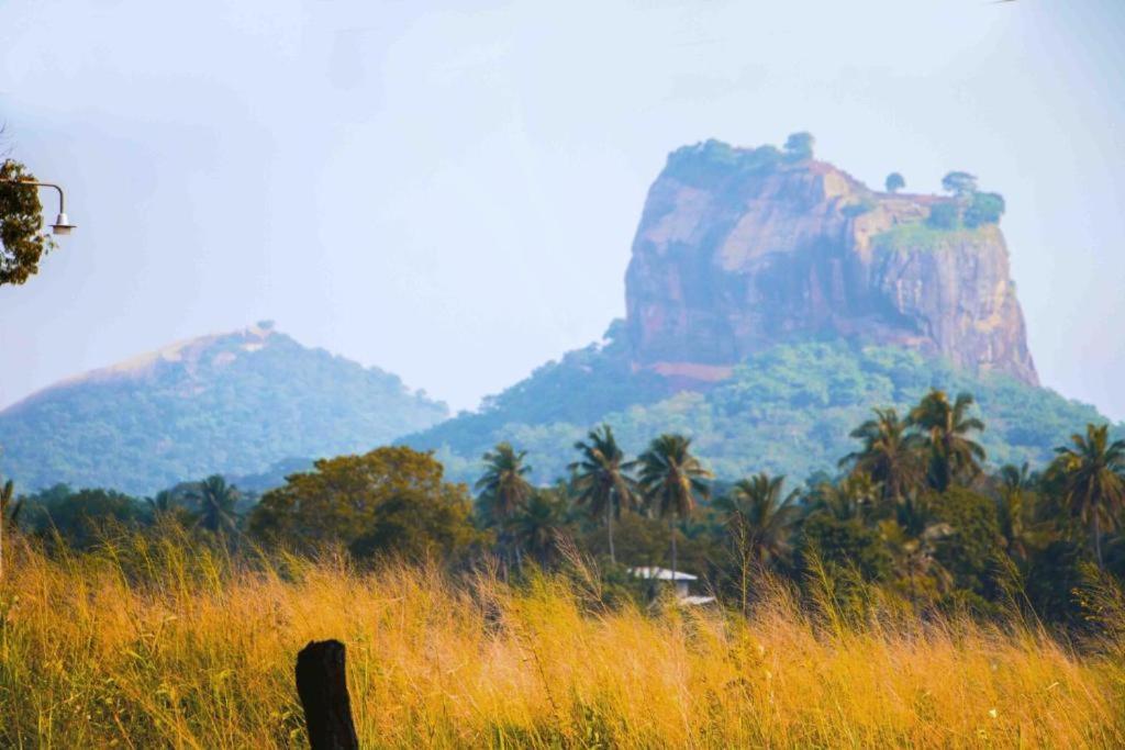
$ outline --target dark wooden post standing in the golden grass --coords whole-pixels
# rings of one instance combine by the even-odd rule
[[[310,641],[297,654],[297,695],[313,750],[359,750],[351,717],[344,644]]]

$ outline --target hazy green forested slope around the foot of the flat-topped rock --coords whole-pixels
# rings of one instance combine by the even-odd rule
[[[848,433],[873,406],[904,413],[930,387],[976,397],[988,424],[981,443],[994,466],[1044,464],[1077,428],[1105,422],[1092,406],[1050,389],[1000,373],[973,374],[894,346],[838,340],[780,344],[749,356],[708,390],[674,395],[662,394],[662,380],[630,376],[614,364],[616,351],[611,342],[573,352],[490,399],[482,413],[402,442],[436,450],[452,476],[469,479],[479,472],[483,453],[507,440],[528,451],[533,477],[549,481],[566,476],[574,442],[605,422],[627,451],[675,431],[694,437],[699,455],[719,477],[764,470],[804,479],[835,472],[836,461],[850,450]],[[608,372],[619,373],[616,388],[631,400],[604,408],[600,383]]]

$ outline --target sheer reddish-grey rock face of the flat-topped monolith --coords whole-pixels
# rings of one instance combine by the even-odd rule
[[[771,344],[828,335],[1037,383],[1002,234],[930,227],[943,200],[874,192],[768,146],[681,148],[626,277],[634,367],[719,380]]]

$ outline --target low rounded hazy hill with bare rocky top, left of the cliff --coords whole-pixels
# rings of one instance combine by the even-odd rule
[[[0,475],[21,490],[68,482],[147,494],[368,450],[447,416],[394,374],[260,324],[72,378],[0,412]]]

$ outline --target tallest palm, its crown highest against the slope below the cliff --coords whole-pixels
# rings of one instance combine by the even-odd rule
[[[969,433],[984,430],[984,423],[968,416],[973,403],[969,394],[958,394],[950,404],[945,391],[934,388],[910,412],[910,423],[922,430],[929,443],[929,481],[939,493],[955,480],[981,472],[984,449]]]

